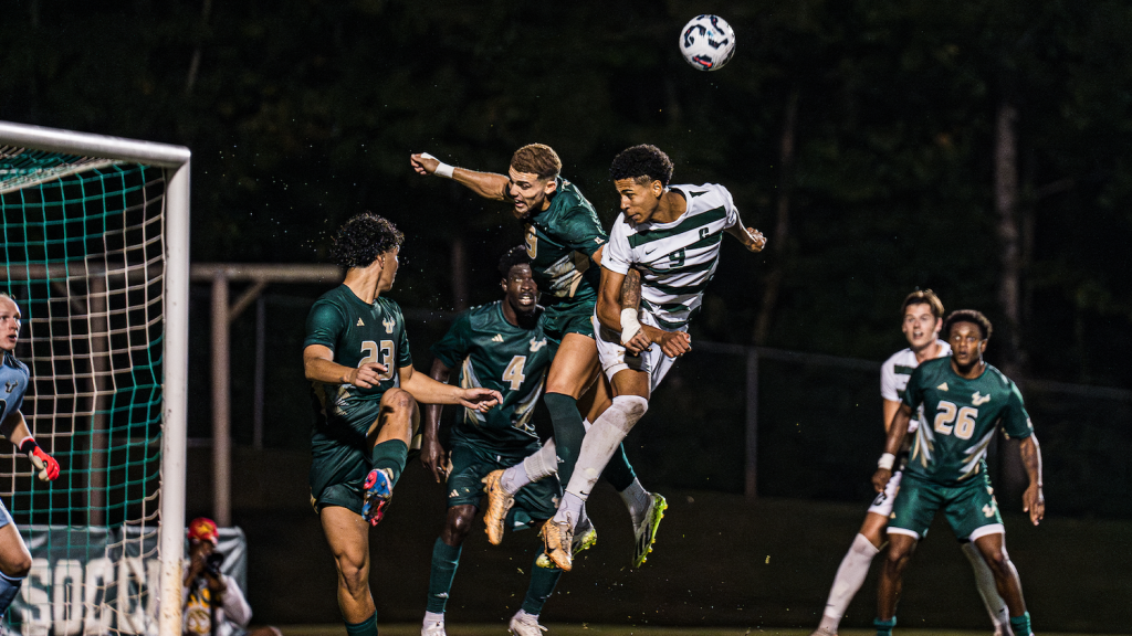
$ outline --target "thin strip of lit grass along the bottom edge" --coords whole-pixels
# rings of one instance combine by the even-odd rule
[[[736,627],[633,627],[626,625],[556,625],[546,626],[547,636],[747,636],[761,634],[766,636],[809,636],[809,630],[779,629],[774,627],[736,628]],[[294,625],[281,628],[283,636],[344,636],[346,630],[342,625]],[[420,625],[383,625],[381,636],[418,636]],[[503,624],[483,625],[449,625],[448,636],[500,636],[507,634]],[[840,636],[874,636],[875,629],[842,629]],[[957,631],[941,629],[901,629],[900,636],[985,636],[985,631]],[[1043,633],[1041,636],[1115,636],[1103,634],[1066,634]]]

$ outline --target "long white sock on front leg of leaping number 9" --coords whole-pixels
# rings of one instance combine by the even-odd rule
[[[648,410],[648,399],[636,395],[620,395],[614,398],[614,404],[590,427],[585,439],[582,440],[582,449],[574,465],[574,475],[566,485],[566,495],[558,506],[558,514],[555,515],[556,522],[563,523],[567,519],[565,513],[572,497],[582,502],[590,498],[590,492],[598,483],[598,478],[601,476],[601,471],[606,469],[609,458],[614,456],[625,436],[633,430],[633,424],[637,423]],[[576,524],[578,509],[572,512],[569,521]]]

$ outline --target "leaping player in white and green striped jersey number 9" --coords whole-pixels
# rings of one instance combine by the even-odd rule
[[[644,415],[649,397],[672,359],[687,353],[688,321],[715,274],[723,232],[751,251],[766,243],[746,227],[722,186],[672,186],[672,162],[655,146],[633,146],[614,158],[610,175],[621,198],[601,258],[594,336],[601,367],[614,389],[612,405],[590,427],[574,474],[555,518],[542,527],[547,556],[571,569],[571,541],[585,500],[606,463]],[[629,268],[641,273],[641,309],[623,310]],[[638,532],[638,553],[655,534]]]

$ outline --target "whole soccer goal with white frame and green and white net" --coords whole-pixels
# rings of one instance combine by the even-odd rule
[[[190,157],[0,121],[22,410],[63,469],[44,484],[0,450],[0,497],[35,557],[9,611],[25,634],[181,633]],[[171,601],[160,617],[155,596]]]

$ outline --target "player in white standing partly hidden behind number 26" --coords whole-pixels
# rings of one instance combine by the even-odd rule
[[[940,328],[943,326],[943,302],[932,290],[917,290],[901,304],[903,320],[901,330],[908,338],[909,347],[893,353],[881,366],[881,397],[884,401],[884,426],[887,429],[892,416],[900,409],[904,397],[904,387],[916,367],[927,360],[951,355],[951,345],[940,340]],[[919,416],[912,418],[908,424],[909,432],[915,431],[924,419],[924,410]],[[903,458],[901,459],[903,461]],[[833,586],[822,612],[822,621],[812,636],[835,636],[838,626],[844,617],[846,609],[852,598],[865,583],[869,565],[887,540],[885,528],[892,515],[892,501],[900,489],[901,471],[892,473],[884,491],[876,496],[865,515],[852,545],[841,560],[838,574],[833,577]],[[975,569],[975,582],[987,612],[994,624],[996,635],[1010,633],[1010,616],[1006,604],[995,591],[994,574],[971,542],[962,544],[963,553]]]

